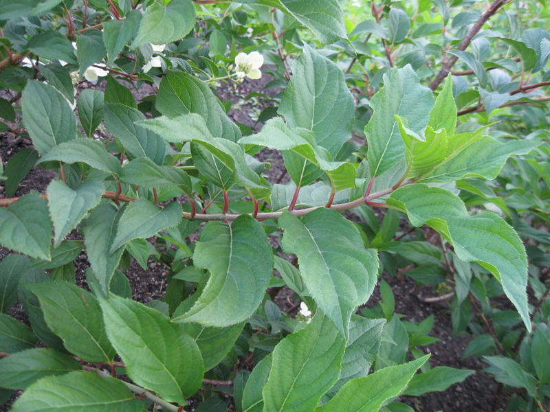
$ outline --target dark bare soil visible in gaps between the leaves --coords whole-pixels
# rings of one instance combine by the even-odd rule
[[[262,108],[270,106],[272,103],[266,102],[262,98],[257,98],[253,102],[245,101],[245,97],[253,91],[262,92],[263,87],[270,80],[270,76],[268,75],[263,76],[259,81],[245,80],[245,82],[239,84],[237,89],[232,89],[232,87],[226,84],[221,84],[218,89],[221,99],[230,99],[233,102],[232,110],[229,113],[230,118],[236,122],[249,126],[254,132],[259,131],[262,126],[261,123],[256,124],[259,111]],[[80,90],[87,87],[89,87],[89,84],[86,82],[80,84]],[[148,93],[148,90],[142,89],[136,93],[136,97],[139,99]],[[278,90],[268,90],[264,93],[273,96],[278,93]],[[24,139],[14,139],[14,135],[0,135],[0,157],[4,162],[4,166],[14,153],[21,150],[21,148],[32,146],[30,142]],[[272,181],[272,183],[284,173],[284,164],[278,152],[264,149],[259,152],[256,157],[261,161],[270,161],[272,164],[269,172],[269,180]],[[55,177],[55,172],[45,170],[41,166],[36,166],[23,180],[19,190],[17,190],[16,196],[26,194],[30,192],[30,190],[36,190],[43,193],[48,183]],[[283,176],[282,183],[286,183],[287,181],[288,176]],[[0,186],[0,198],[1,197],[5,197],[2,186]],[[72,235],[78,236],[78,233],[75,231]],[[11,252],[7,249],[0,247],[0,260],[10,253]],[[87,288],[84,276],[87,266],[89,266],[89,264],[85,251],[83,251],[75,261],[75,267],[77,283],[84,288]],[[132,287],[133,298],[144,303],[153,299],[162,299],[166,290],[167,273],[168,269],[165,266],[157,264],[152,260],[149,260],[146,271],[136,262],[133,262],[131,268],[126,273]],[[476,370],[475,374],[472,374],[465,381],[453,385],[446,391],[427,393],[419,398],[402,397],[400,401],[410,405],[410,407],[417,412],[435,412],[440,410],[445,412],[491,411],[498,384],[491,376],[483,372],[485,365],[483,365],[479,358],[474,356],[463,358],[463,353],[471,338],[470,336],[463,335],[459,336],[457,339],[452,339],[452,326],[448,304],[445,301],[433,304],[427,304],[421,301],[417,297],[415,283],[408,277],[404,277],[403,280],[399,281],[396,278],[384,274],[384,279],[390,284],[395,294],[395,311],[399,314],[404,314],[404,320],[421,321],[430,316],[430,314],[434,314],[435,323],[430,336],[436,336],[441,339],[441,341],[423,347],[426,353],[432,354],[430,358],[432,367],[446,365],[460,369]],[[377,286],[366,306],[373,307],[379,300],[380,292]],[[296,306],[296,302],[292,301],[292,290],[287,288],[283,288],[283,290],[278,293],[275,302],[282,310],[289,310],[293,306]],[[296,310],[290,311],[289,314],[296,314]],[[19,304],[19,302],[10,310],[10,315],[28,323],[28,319],[21,309],[21,304]],[[12,400],[8,402],[8,404],[4,407],[0,407],[0,412],[9,411],[10,404],[16,397],[17,393],[14,394],[14,397],[12,397]],[[506,397],[503,399],[505,398]],[[499,407],[504,407],[505,403],[502,402],[503,400],[500,401]],[[186,407],[186,410],[191,411],[192,407]]]

